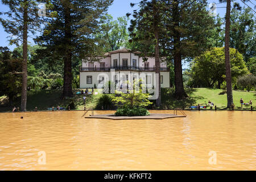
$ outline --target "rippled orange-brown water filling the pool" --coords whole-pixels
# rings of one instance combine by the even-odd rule
[[[0,114],[0,169],[256,169],[253,111],[186,111],[186,118],[148,121],[85,119],[83,113]],[[96,111],[105,113],[114,111]],[[46,164],[39,164],[39,151]],[[209,163],[210,151],[216,164]]]

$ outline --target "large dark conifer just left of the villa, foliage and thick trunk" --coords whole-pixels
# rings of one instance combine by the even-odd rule
[[[63,98],[72,97],[72,60],[90,57],[97,48],[92,36],[100,27],[113,0],[56,0],[52,1],[57,18],[49,21],[38,43],[64,61]]]

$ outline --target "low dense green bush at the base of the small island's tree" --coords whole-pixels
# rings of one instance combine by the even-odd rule
[[[150,115],[150,112],[144,107],[121,107],[115,112],[116,116],[144,116]]]

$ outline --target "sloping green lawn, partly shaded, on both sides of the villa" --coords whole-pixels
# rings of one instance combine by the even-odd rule
[[[68,104],[72,101],[76,106],[76,110],[83,110],[84,106],[86,106],[86,109],[95,109],[97,100],[102,94],[86,95],[86,105],[84,105],[84,101],[82,99],[83,96],[81,94],[76,94],[76,92],[81,90],[85,91],[85,89],[73,90],[74,97],[67,100],[61,100],[60,96],[62,90],[30,90],[27,93],[27,110],[34,110],[35,106],[38,107],[38,110],[47,110],[48,107],[52,106],[62,106],[67,108]],[[100,90],[94,89],[94,93],[98,91]],[[91,92],[91,89],[89,89],[89,92]],[[192,105],[205,105],[208,103],[208,100],[212,101],[214,105],[217,106],[217,109],[224,109],[226,107],[226,93],[223,94],[221,89],[197,88],[187,89],[186,92],[189,97],[181,101],[177,101],[173,96],[173,88],[162,89],[162,107],[159,109],[174,109],[176,107],[189,109],[189,106]],[[236,105],[235,109],[241,109],[240,98],[243,98],[245,103],[252,100],[254,110],[256,109],[256,92],[233,90],[233,101],[234,105]],[[0,112],[11,111],[12,107],[7,106],[6,103],[6,97],[0,97]],[[15,98],[14,104],[15,106],[20,106],[20,96]],[[210,109],[210,107],[207,107],[207,109]],[[249,110],[250,106],[243,106],[243,110],[245,109]]]

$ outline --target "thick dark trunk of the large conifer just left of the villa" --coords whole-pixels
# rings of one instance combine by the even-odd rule
[[[64,5],[65,12],[65,56],[64,56],[64,85],[63,98],[72,97],[72,51],[71,51],[71,10],[68,5]]]

